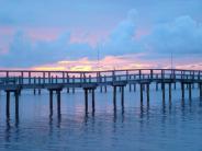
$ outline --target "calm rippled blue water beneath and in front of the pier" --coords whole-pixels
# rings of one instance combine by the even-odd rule
[[[187,93],[188,94],[188,93]],[[120,95],[120,94],[119,94]],[[181,101],[179,90],[164,104],[161,92],[150,92],[150,103],[139,104],[139,93],[125,92],[122,109],[113,112],[112,93],[96,93],[96,113],[85,114],[83,92],[61,94],[61,117],[49,117],[48,93],[20,97],[20,119],[5,119],[5,97],[0,95],[0,151],[134,151],[202,150],[202,101],[193,90],[192,101]],[[146,98],[145,98],[146,100]]]

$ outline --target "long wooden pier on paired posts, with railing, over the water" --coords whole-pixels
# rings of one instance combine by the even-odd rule
[[[197,84],[199,96],[202,96],[202,71],[179,69],[130,69],[108,71],[33,71],[33,70],[0,70],[0,91],[5,92],[5,115],[10,117],[10,93],[15,96],[15,117],[19,118],[19,95],[23,90],[33,90],[34,95],[41,94],[41,90],[49,91],[49,113],[53,114],[53,94],[57,94],[57,113],[60,115],[60,93],[65,89],[67,93],[76,93],[77,89],[83,90],[86,113],[88,113],[89,94],[91,94],[92,112],[96,111],[94,91],[108,92],[113,88],[113,106],[116,109],[116,92],[121,92],[121,104],[124,106],[124,89],[136,91],[139,88],[141,98],[149,102],[150,84],[156,84],[156,90],[161,90],[162,101],[166,98],[166,85],[168,85],[169,101],[176,84],[181,85],[181,97],[184,98],[184,89],[192,97],[192,88]],[[160,88],[159,88],[160,85]]]

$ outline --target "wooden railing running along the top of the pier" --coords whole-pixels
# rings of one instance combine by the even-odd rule
[[[54,84],[54,83],[104,83],[139,80],[202,80],[200,70],[130,69],[108,71],[32,71],[0,70],[0,85]]]

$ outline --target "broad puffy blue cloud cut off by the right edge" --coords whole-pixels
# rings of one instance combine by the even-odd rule
[[[202,54],[202,25],[189,15],[180,16],[156,25],[143,40],[150,53]]]

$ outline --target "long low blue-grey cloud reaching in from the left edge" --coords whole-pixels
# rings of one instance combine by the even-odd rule
[[[25,33],[16,32],[8,53],[0,56],[0,65],[3,67],[32,67],[90,55],[96,56],[90,45],[70,43],[69,33],[53,40],[34,43]]]

